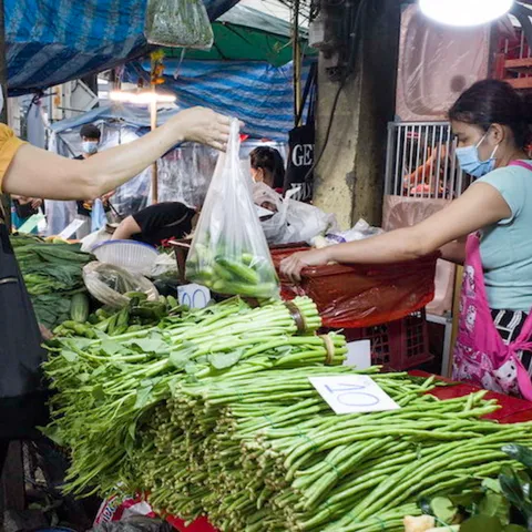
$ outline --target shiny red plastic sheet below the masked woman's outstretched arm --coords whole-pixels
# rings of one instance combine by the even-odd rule
[[[304,247],[272,249],[280,262]],[[427,306],[434,297],[439,254],[417,260],[380,265],[329,265],[304,269],[300,285],[282,278],[282,296],[309,296],[325,327],[370,327],[395,321]]]

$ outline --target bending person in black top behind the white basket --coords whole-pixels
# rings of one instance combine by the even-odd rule
[[[152,246],[164,245],[171,238],[183,238],[192,231],[196,209],[180,202],[151,205],[127,216],[113,234],[113,241],[134,239]]]

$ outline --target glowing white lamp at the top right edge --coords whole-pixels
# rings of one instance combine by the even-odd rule
[[[514,0],[419,0],[421,12],[450,25],[480,25],[510,11]]]

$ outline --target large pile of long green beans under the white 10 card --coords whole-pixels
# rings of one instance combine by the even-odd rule
[[[497,477],[504,443],[532,444],[532,424],[480,420],[483,392],[440,401],[406,374],[372,378],[402,408],[336,416],[308,377],[346,367],[270,369],[182,383],[146,427],[132,480],[158,511],[223,532],[402,531],[419,497]],[[514,466],[515,463],[512,462]]]

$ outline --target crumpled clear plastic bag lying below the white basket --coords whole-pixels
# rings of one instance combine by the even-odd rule
[[[130,298],[124,294],[129,291],[143,291],[149,301],[158,299],[153,283],[142,275],[133,275],[119,266],[98,260],[83,267],[83,282],[91,296],[113,308],[127,306]]]

